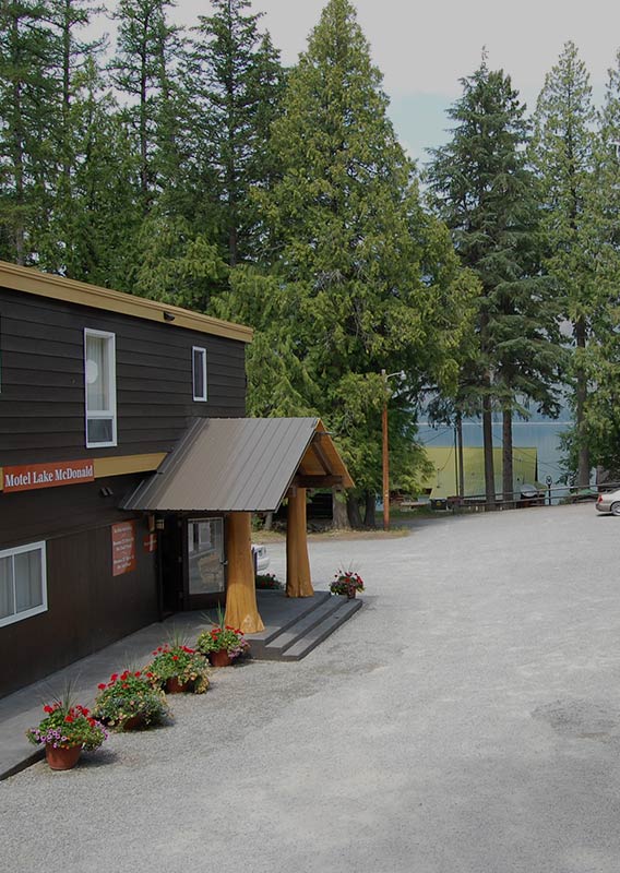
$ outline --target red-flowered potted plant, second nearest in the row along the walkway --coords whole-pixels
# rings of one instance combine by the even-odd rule
[[[136,670],[112,673],[102,682],[94,714],[106,725],[119,730],[156,725],[169,715],[166,695],[152,684],[153,674]]]

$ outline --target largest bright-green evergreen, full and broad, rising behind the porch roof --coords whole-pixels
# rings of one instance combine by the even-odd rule
[[[391,449],[410,467],[413,407],[422,384],[453,380],[468,301],[386,108],[353,7],[331,0],[272,127],[282,177],[260,196],[272,277],[261,285],[247,272],[245,287],[222,301],[228,315],[245,307],[261,332],[271,321],[286,362],[262,381],[260,354],[250,359],[252,403],[265,409],[277,396],[281,414],[321,415],[358,488],[372,492],[381,482],[381,371],[406,373],[390,399]]]

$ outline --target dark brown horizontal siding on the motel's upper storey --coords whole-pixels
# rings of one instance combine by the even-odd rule
[[[118,445],[86,449],[84,328],[116,336]],[[192,398],[192,346],[208,400]],[[170,451],[195,417],[238,417],[245,344],[0,288],[0,466]]]

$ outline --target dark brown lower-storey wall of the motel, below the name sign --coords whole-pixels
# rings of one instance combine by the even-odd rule
[[[45,540],[48,602],[46,612],[0,627],[11,667],[0,675],[0,696],[157,620],[157,555],[143,548],[146,519],[115,506],[138,479],[0,494],[0,550]],[[115,489],[111,498],[100,497],[104,483]],[[111,525],[132,518],[136,569],[114,576]]]

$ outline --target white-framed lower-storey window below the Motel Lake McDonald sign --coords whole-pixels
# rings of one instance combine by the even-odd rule
[[[0,551],[0,627],[46,610],[45,542]]]

